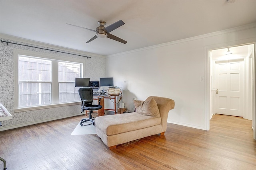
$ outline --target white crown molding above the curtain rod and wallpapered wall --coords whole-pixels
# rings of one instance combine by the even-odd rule
[[[12,40],[12,41],[18,41],[18,42],[27,43],[27,44],[32,44],[32,45],[38,45],[38,46],[42,46],[42,47],[48,47],[48,48],[52,48],[52,49],[58,49],[58,50],[62,50],[62,51],[69,51],[69,52],[72,52],[72,53],[87,55],[88,57],[105,58],[104,55],[97,55],[97,54],[94,54],[94,53],[88,53],[86,51],[70,49],[70,48],[61,47],[61,46],[58,46],[58,45],[52,45],[52,44],[48,44],[48,43],[42,43],[42,42],[39,42],[39,41],[33,41],[33,40],[30,40],[30,39],[15,37],[15,36],[3,34],[3,33],[0,33],[0,38]]]

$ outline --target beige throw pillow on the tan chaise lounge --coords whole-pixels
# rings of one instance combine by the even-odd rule
[[[133,103],[137,113],[147,116],[160,117],[157,103],[153,98],[148,101],[134,100]]]

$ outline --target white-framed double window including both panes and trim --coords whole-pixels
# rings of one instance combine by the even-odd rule
[[[53,57],[18,49],[14,50],[14,58],[17,85],[14,110],[80,102],[75,78],[84,74],[84,59]]]

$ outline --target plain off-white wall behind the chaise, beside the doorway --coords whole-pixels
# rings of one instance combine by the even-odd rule
[[[201,81],[205,73],[204,49],[246,39],[250,41],[247,43],[252,43],[252,39],[256,42],[255,23],[111,55],[106,58],[106,76],[113,76],[115,85],[122,87],[123,102],[128,109],[134,109],[133,98],[171,98],[175,108],[169,112],[169,123],[206,129],[205,82]]]

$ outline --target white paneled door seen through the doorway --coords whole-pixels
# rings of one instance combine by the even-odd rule
[[[244,116],[244,60],[216,62],[216,113]]]

